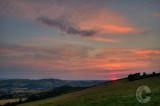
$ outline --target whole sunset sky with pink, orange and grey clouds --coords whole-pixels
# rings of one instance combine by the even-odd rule
[[[160,72],[159,0],[0,0],[0,78]]]

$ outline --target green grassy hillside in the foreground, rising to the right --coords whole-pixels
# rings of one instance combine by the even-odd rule
[[[146,104],[136,99],[136,90],[139,86],[149,86],[151,100]],[[129,82],[127,79],[104,83],[85,90],[64,94],[55,98],[48,98],[21,106],[133,106],[133,105],[160,105],[160,76],[140,79]]]

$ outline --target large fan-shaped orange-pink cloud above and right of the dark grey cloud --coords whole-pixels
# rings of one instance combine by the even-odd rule
[[[97,35],[140,33],[143,31],[125,16],[109,9],[97,9],[82,19],[82,21],[79,20],[79,27],[81,29],[95,30],[98,32]]]

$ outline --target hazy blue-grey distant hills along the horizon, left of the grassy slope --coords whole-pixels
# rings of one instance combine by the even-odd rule
[[[107,82],[107,80],[60,80],[60,79],[9,79],[0,80],[1,92],[21,92],[30,90],[42,90],[63,85],[87,87]]]

